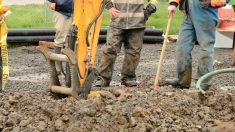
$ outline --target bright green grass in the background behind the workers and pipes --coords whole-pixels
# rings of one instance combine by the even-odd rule
[[[167,2],[158,3],[157,12],[151,15],[147,21],[147,26],[166,29],[167,25]],[[9,6],[12,14],[7,18],[9,28],[35,28],[35,27],[52,27],[52,13],[49,7],[43,5],[13,5]],[[50,12],[47,13],[46,12]],[[170,34],[177,34],[182,21],[183,14],[177,11],[172,20]],[[46,20],[45,20],[46,19]],[[108,26],[110,16],[107,10],[103,13],[102,26]]]

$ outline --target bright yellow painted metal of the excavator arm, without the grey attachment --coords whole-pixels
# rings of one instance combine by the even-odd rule
[[[81,73],[81,77],[79,76],[81,87],[83,87],[86,81],[85,79],[87,76],[88,66],[94,65],[95,62],[96,47],[98,44],[102,16],[100,16],[98,21],[92,26],[89,33],[89,42],[91,44],[90,55],[88,54],[89,50],[86,43],[86,29],[89,23],[95,18],[95,16],[100,11],[101,3],[102,0],[74,0],[73,19],[74,24],[78,28],[76,57],[79,66],[79,72]],[[88,61],[88,63],[86,61]]]

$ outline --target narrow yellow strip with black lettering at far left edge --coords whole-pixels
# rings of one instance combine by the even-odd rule
[[[7,51],[7,24],[5,21],[5,14],[7,8],[2,6],[2,0],[0,0],[0,47],[1,47],[1,59],[2,59],[2,90],[5,89],[6,83],[9,76],[9,67],[8,67],[8,51]]]

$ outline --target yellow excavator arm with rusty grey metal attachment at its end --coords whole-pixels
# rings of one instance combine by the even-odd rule
[[[46,57],[50,74],[50,90],[75,98],[87,98],[94,80],[96,48],[106,0],[74,0],[73,25],[63,54],[55,54],[38,46]],[[66,62],[65,86],[58,78],[55,61]]]

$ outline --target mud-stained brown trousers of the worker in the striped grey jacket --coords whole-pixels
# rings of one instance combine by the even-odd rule
[[[144,28],[118,29],[109,27],[107,42],[102,47],[100,63],[97,68],[98,74],[111,81],[115,60],[124,44],[124,60],[122,65],[122,80],[136,79],[135,70],[140,59],[143,45]]]

